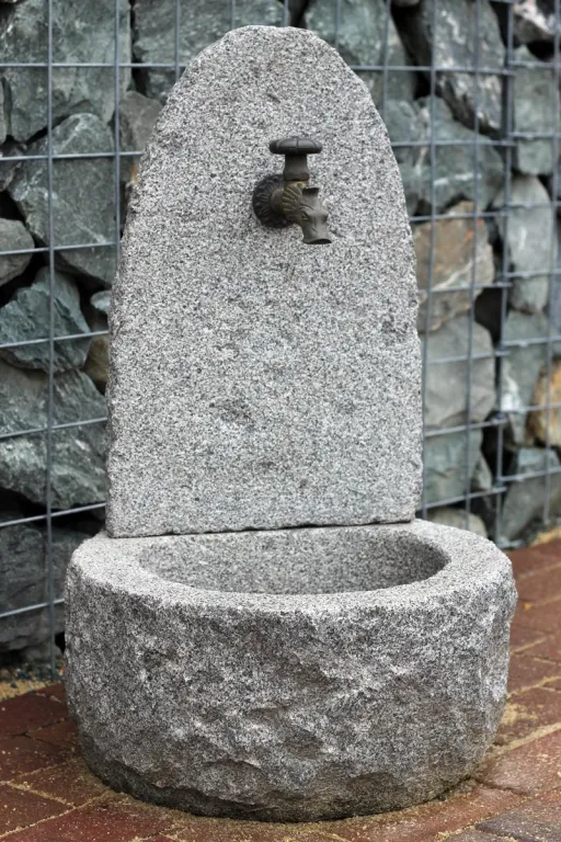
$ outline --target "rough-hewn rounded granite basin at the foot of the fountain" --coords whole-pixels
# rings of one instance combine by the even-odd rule
[[[209,816],[403,808],[470,774],[515,604],[490,542],[426,522],[88,541],[67,690],[91,769]]]

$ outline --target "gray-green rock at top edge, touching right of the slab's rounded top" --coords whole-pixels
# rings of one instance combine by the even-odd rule
[[[329,44],[336,46],[348,65],[381,67],[387,64],[390,69],[387,75],[386,95],[390,99],[412,100],[415,90],[414,73],[391,70],[392,65],[403,67],[410,61],[391,15],[389,20],[385,0],[363,0],[360,3],[341,0],[339,4],[331,0],[312,0],[306,12],[306,24]],[[383,94],[382,71],[358,72],[374,101],[380,105]]]

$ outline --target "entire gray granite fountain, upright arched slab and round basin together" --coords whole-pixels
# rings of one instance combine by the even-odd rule
[[[433,798],[492,742],[515,590],[493,544],[415,520],[414,270],[335,50],[255,26],[201,53],[130,202],[106,533],[68,573],[69,703],[115,789],[334,818]]]

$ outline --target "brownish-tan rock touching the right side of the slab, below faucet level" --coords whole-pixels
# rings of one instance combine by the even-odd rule
[[[460,202],[449,213],[453,216],[473,214],[473,204]],[[437,330],[444,322],[471,309],[482,292],[477,286],[493,283],[493,250],[488,241],[485,224],[473,217],[437,219],[417,225],[413,228],[413,243],[421,301],[417,330],[424,333],[428,286],[432,294],[428,329]],[[447,292],[458,286],[466,288]]]

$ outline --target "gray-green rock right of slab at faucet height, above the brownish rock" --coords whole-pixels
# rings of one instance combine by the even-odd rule
[[[383,118],[392,143],[426,141],[426,146],[400,146],[394,150],[410,214],[415,209],[430,213],[433,204],[435,213],[439,214],[460,200],[477,200],[478,207],[484,209],[501,189],[504,164],[492,141],[458,123],[444,100],[435,98],[432,105],[427,96],[414,103],[389,100]],[[438,144],[454,143],[453,146],[435,147],[434,179],[431,136]],[[476,141],[477,170],[473,157]]]

